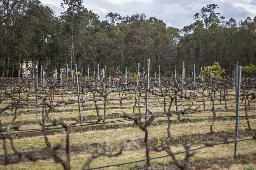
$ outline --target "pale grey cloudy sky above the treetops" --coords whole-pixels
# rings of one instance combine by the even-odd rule
[[[44,6],[51,7],[55,15],[63,11],[60,7],[61,0],[41,0]],[[119,13],[122,17],[133,14],[145,13],[147,19],[156,17],[164,21],[167,27],[182,29],[194,23],[193,16],[200,13],[208,4],[218,4],[216,11],[226,20],[231,17],[237,22],[252,19],[256,16],[256,0],[83,0],[84,7],[106,20],[109,12]]]

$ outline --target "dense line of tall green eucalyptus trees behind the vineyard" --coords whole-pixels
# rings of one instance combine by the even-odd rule
[[[156,17],[146,19],[144,13],[122,17],[108,13],[106,20],[83,6],[82,0],[62,0],[64,12],[59,17],[38,0],[0,0],[0,74],[14,69],[18,74],[22,63],[39,61],[46,76],[68,64],[77,63],[84,75],[93,76],[97,64],[111,76],[137,71],[140,62],[150,74],[164,70],[164,76],[182,72],[191,76],[193,64],[196,75],[201,67],[218,62],[231,75],[234,63],[242,66],[256,64],[256,17],[247,17],[238,23],[226,20],[217,12],[216,4],[209,4],[195,14],[195,22],[181,30],[166,27]],[[143,70],[141,68],[141,70]],[[24,68],[23,68],[24,69]],[[146,69],[145,69],[146,70]],[[86,74],[85,74],[86,73]],[[21,73],[20,73],[21,74]],[[39,74],[40,75],[40,74]]]

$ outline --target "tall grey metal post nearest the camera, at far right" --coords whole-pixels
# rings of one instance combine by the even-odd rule
[[[237,86],[236,86],[236,140],[238,138],[238,122],[239,122],[239,102],[240,102],[240,81],[241,81],[241,66],[238,66],[237,73]],[[236,67],[236,68],[237,68]],[[235,142],[235,158],[237,157],[237,141]]]

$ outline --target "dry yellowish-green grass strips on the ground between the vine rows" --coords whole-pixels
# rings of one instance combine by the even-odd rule
[[[144,95],[142,95],[144,96]],[[89,96],[90,97],[90,96]],[[200,93],[199,93],[200,97]],[[110,97],[109,97],[110,98]],[[231,98],[231,97],[230,97]],[[234,98],[234,97],[233,97]],[[76,99],[75,97],[70,96],[70,99]],[[55,100],[60,100],[60,98],[55,97]],[[123,104],[122,106],[133,106],[134,99],[133,100],[123,100],[123,102],[131,102],[127,104]],[[168,100],[166,101],[168,102]],[[150,100],[150,104],[160,104],[163,103],[163,100]],[[184,107],[186,104],[191,104],[192,102],[184,102]],[[218,104],[218,101],[216,101]],[[103,102],[98,102],[99,107],[103,107]],[[132,108],[119,108],[119,102],[118,101],[111,101],[110,104],[107,105],[107,107],[114,107],[114,109],[108,109],[107,114],[110,116],[113,113],[118,113],[122,115],[121,111],[124,111],[127,114],[132,113]],[[141,105],[144,104],[144,101],[141,101]],[[179,103],[180,104],[180,103]],[[197,101],[193,101],[194,105],[200,105],[201,103]],[[77,104],[76,104],[77,105]],[[233,103],[228,103],[228,105],[234,105]],[[94,106],[93,102],[86,103],[85,106]],[[1,105],[0,107],[3,107]],[[224,105],[216,105],[216,108],[224,107]],[[168,109],[168,105],[166,106]],[[211,108],[211,102],[206,102],[206,109]],[[243,107],[240,107],[243,109]],[[67,109],[73,109],[71,111],[67,111]],[[153,112],[162,112],[163,111],[163,105],[159,107],[149,107],[150,111]],[[180,106],[179,106],[180,109]],[[202,110],[202,106],[200,108]],[[233,108],[234,109],[234,108]],[[32,111],[27,111],[32,110]],[[39,112],[42,110],[42,108],[39,107]],[[65,112],[61,112],[61,111]],[[175,110],[175,105],[172,106],[171,110]],[[255,115],[254,113],[255,109],[250,109],[248,112],[248,115]],[[15,121],[23,121],[25,125],[23,125],[20,129],[33,129],[33,128],[41,128],[37,123],[40,122],[38,120],[35,120],[35,108],[22,108],[18,111],[24,111],[24,113],[21,113],[18,115],[17,119]],[[26,111],[26,112],[25,112]],[[141,108],[141,111],[144,111],[144,108]],[[234,116],[235,112],[233,110],[228,109],[228,111],[225,110],[216,110],[217,116]],[[72,105],[72,107],[66,107],[61,106],[58,107],[55,110],[56,113],[50,113],[49,117],[50,119],[59,119],[61,121],[64,121],[65,123],[72,123],[74,120],[74,117],[77,117],[79,115],[79,112],[77,110],[77,107]],[[138,109],[136,108],[136,112],[138,112]],[[99,110],[99,114],[103,116],[103,109]],[[82,111],[82,115],[96,115],[96,110],[85,110]],[[240,115],[245,115],[245,112],[241,110]],[[182,115],[181,115],[182,116]],[[205,112],[199,112],[192,113],[192,114],[186,114],[184,115],[186,117],[189,116],[212,116],[211,111],[205,111]],[[38,118],[40,119],[42,117],[41,113],[38,114]],[[61,119],[60,119],[61,118]],[[65,121],[65,118],[72,118],[68,121]],[[13,115],[6,115],[0,117],[2,123],[7,124],[8,122],[11,122],[13,119]],[[96,119],[96,118],[95,118]],[[112,116],[107,121],[115,121],[115,120],[121,120],[119,116],[116,115],[116,117]],[[172,136],[172,141],[184,141],[181,139],[181,135],[190,135],[190,134],[198,134],[198,135],[206,135],[206,133],[210,132],[210,124],[212,122],[212,119],[207,118],[189,118],[190,120],[193,120],[189,123],[178,123],[177,118],[170,118],[173,122],[176,122],[177,124],[171,124],[170,132]],[[184,118],[181,118],[184,119]],[[167,118],[157,118],[155,121],[166,121]],[[256,121],[255,119],[250,119],[251,127],[255,129],[256,127]],[[106,126],[103,126],[102,130],[90,130],[86,132],[75,132],[74,128],[72,128],[70,133],[70,144],[75,145],[78,147],[85,146],[88,148],[86,150],[86,153],[72,153],[71,154],[71,167],[72,169],[81,169],[83,164],[85,163],[86,159],[90,157],[90,154],[95,151],[94,147],[91,147],[92,143],[99,143],[102,144],[103,142],[107,142],[107,144],[110,146],[110,143],[113,143],[114,146],[120,147],[121,145],[125,145],[125,150],[122,155],[119,157],[113,157],[113,158],[106,158],[106,157],[99,157],[96,160],[92,162],[90,165],[90,168],[93,167],[99,167],[99,166],[105,166],[105,165],[111,165],[111,164],[117,164],[117,163],[125,163],[130,161],[136,161],[145,159],[145,149],[139,144],[139,142],[136,139],[143,139],[144,138],[144,132],[140,130],[138,127],[126,127],[127,124],[130,124],[130,126],[133,125],[133,122],[120,122],[120,123],[113,123],[111,125],[115,125],[119,128],[117,129],[106,129]],[[101,126],[101,125],[97,125]],[[105,127],[105,128],[104,128]],[[245,136],[244,134],[248,131],[245,131],[247,128],[247,122],[246,120],[240,120],[239,121],[239,128],[240,131],[243,132],[243,134],[240,134],[240,139],[246,139],[250,138],[251,136]],[[233,133],[235,130],[235,120],[228,118],[225,121],[223,119],[217,120],[213,125],[214,132],[221,132],[221,131],[227,131],[228,133]],[[149,131],[149,138],[150,139],[157,139],[155,142],[156,146],[159,146],[161,144],[164,144],[164,142],[158,140],[162,138],[167,137],[167,123],[158,125],[155,124],[154,126],[148,127]],[[208,135],[210,137],[211,134]],[[49,141],[52,143],[52,145],[57,145],[61,142],[62,139],[65,139],[66,135],[65,133],[61,133],[61,130],[56,131],[53,135],[47,135]],[[129,141],[131,142],[127,142]],[[8,140],[7,140],[8,141]],[[197,138],[191,138],[187,140],[188,143],[191,142],[197,142]],[[2,140],[0,141],[0,145],[2,146]],[[182,143],[181,143],[182,144]],[[184,148],[181,144],[173,145],[171,147],[173,152],[180,152],[184,151]],[[17,138],[14,137],[14,145],[16,146],[18,151],[29,151],[31,150],[30,146],[34,146],[35,150],[44,149],[45,148],[45,142],[42,135],[34,136],[34,137],[25,137],[25,138]],[[63,145],[65,145],[65,140]],[[200,147],[200,146],[194,146],[193,148]],[[7,149],[8,153],[13,153],[10,147],[9,141],[7,142]],[[249,140],[249,141],[242,141],[238,143],[238,154],[246,155],[250,153],[255,153],[255,141]],[[2,147],[0,147],[0,154],[3,153]],[[166,155],[165,152],[150,152],[150,157],[158,157]],[[218,158],[218,160],[226,159],[227,157],[231,157],[232,159],[234,154],[234,144],[225,144],[225,145],[216,145],[214,147],[207,147],[203,148],[201,150],[198,150],[195,157],[192,157],[190,159],[191,162],[196,161],[196,158],[199,157],[200,161],[203,163],[209,162],[211,159]],[[177,155],[177,159],[181,161],[184,157],[184,154]],[[152,160],[152,164],[157,163],[169,163],[172,161],[171,157],[165,157],[161,159]],[[243,160],[239,162],[234,162],[233,165],[230,165],[230,169],[245,169],[249,170],[249,168],[256,167],[255,164],[243,164],[241,163]],[[109,167],[108,169],[136,169],[135,166],[142,167],[145,162],[140,162],[136,164],[131,165],[123,165],[119,167]],[[248,162],[249,163],[249,162]],[[52,159],[44,160],[44,161],[38,161],[36,163],[33,162],[22,162],[16,165],[9,165],[4,167],[3,165],[0,165],[0,169],[27,169],[29,167],[30,169],[62,169],[62,166],[60,164],[55,164]],[[215,167],[218,169],[218,165]],[[220,168],[220,166],[219,166]],[[247,168],[247,169],[246,169]],[[225,168],[222,168],[225,169]],[[251,170],[251,169],[250,169]],[[252,169],[254,170],[254,169]]]

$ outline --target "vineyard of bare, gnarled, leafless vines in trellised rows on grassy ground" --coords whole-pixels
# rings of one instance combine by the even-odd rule
[[[254,78],[238,95],[235,77],[0,83],[0,169],[256,167]]]

